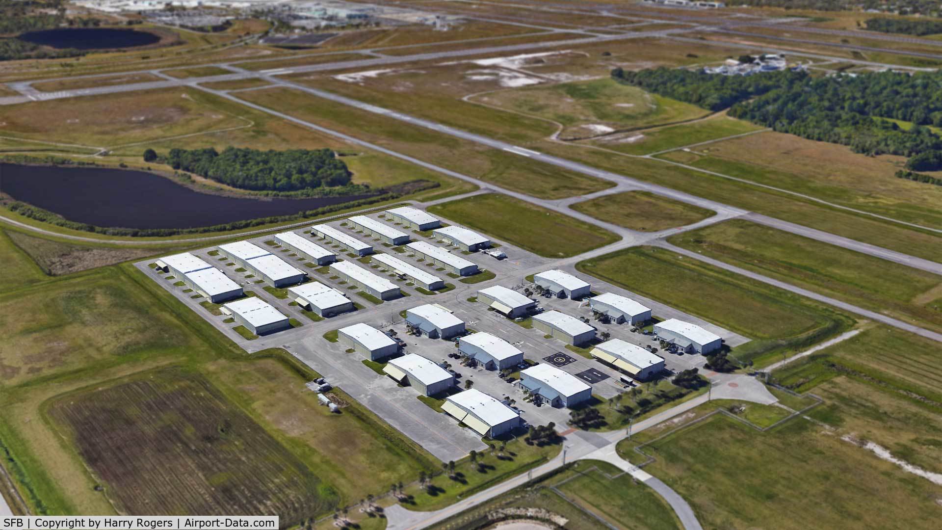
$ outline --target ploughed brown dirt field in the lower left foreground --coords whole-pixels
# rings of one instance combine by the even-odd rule
[[[202,376],[167,369],[69,394],[49,415],[133,515],[324,511],[319,480]]]

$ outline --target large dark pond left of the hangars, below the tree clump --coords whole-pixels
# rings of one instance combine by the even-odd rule
[[[195,228],[288,215],[362,199],[239,199],[190,190],[145,172],[0,164],[0,191],[78,223],[122,228]]]

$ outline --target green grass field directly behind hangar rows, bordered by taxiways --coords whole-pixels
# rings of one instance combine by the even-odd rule
[[[619,240],[603,228],[500,193],[474,195],[429,211],[544,257],[576,256]]]

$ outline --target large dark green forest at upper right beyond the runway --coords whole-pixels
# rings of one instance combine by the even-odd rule
[[[848,145],[856,153],[918,155],[920,171],[942,167],[942,73],[879,72],[812,77],[780,71],[710,75],[658,68],[615,69],[616,81],[734,118],[816,141]],[[891,120],[913,124],[908,129]],[[909,169],[917,169],[910,167]]]

